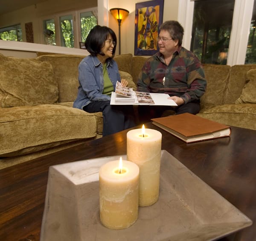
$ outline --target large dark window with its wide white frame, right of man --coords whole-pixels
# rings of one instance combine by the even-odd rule
[[[254,1],[179,0],[183,46],[194,51],[203,63],[234,65],[256,61],[251,42],[256,19]]]

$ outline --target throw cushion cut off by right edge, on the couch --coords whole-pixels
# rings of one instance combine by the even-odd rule
[[[241,96],[236,100],[236,104],[254,103],[256,104],[256,70],[249,70],[246,75],[246,84]]]

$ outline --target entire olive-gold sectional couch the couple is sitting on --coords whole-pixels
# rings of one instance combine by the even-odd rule
[[[35,59],[0,54],[0,158],[19,157],[102,136],[102,113],[73,108],[80,55]],[[117,55],[122,78],[136,88],[147,57]],[[207,91],[199,116],[256,130],[256,65],[204,64]]]

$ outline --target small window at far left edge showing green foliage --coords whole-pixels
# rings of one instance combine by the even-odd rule
[[[22,31],[20,24],[1,28],[0,39],[10,41],[22,41]]]

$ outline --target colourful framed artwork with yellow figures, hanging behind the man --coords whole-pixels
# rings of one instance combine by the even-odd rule
[[[134,55],[153,55],[157,52],[159,26],[163,23],[163,1],[136,3]]]

